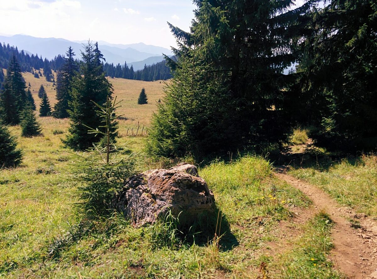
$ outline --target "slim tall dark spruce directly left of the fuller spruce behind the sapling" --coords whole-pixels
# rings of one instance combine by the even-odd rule
[[[54,107],[53,116],[55,118],[69,117],[68,109],[69,102],[72,101],[72,82],[78,72],[78,64],[74,59],[75,53],[71,47],[69,47],[66,55],[64,65],[57,76],[56,99],[58,102]]]

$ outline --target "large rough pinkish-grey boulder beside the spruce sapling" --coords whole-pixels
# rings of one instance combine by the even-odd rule
[[[131,177],[113,200],[135,226],[152,224],[169,210],[181,225],[213,211],[215,198],[195,166],[182,163],[169,170],[156,169]]]

